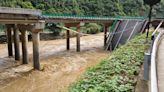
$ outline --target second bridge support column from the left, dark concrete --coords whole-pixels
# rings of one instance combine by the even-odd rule
[[[14,25],[14,48],[15,48],[15,60],[20,60],[20,38],[19,38],[19,30],[17,25]]]

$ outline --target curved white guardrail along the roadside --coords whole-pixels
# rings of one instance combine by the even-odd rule
[[[155,33],[156,31],[160,28],[160,26],[162,25],[163,21],[161,21],[161,23],[158,25],[158,27],[156,28],[156,30],[153,32],[152,36],[153,39],[155,38]],[[156,68],[156,54],[157,54],[157,50],[158,50],[158,45],[160,43],[161,37],[164,34],[164,32],[161,30],[159,31],[158,36],[155,38],[155,41],[153,43],[153,47],[152,47],[152,53],[151,53],[151,90],[150,92],[158,92],[158,80],[157,80],[157,68]],[[153,40],[152,39],[152,40]]]

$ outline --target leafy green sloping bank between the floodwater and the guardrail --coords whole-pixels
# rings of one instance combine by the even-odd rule
[[[147,48],[144,43],[145,34],[121,46],[109,59],[87,70],[69,92],[133,92]]]

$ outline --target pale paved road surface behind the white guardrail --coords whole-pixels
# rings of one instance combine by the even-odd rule
[[[157,52],[157,77],[158,90],[159,92],[164,92],[164,36],[161,39]]]

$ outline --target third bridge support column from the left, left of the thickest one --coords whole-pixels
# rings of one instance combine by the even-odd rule
[[[21,40],[22,40],[22,61],[23,64],[28,64],[28,50],[27,50],[27,44],[28,44],[28,35],[26,30],[21,30]]]

